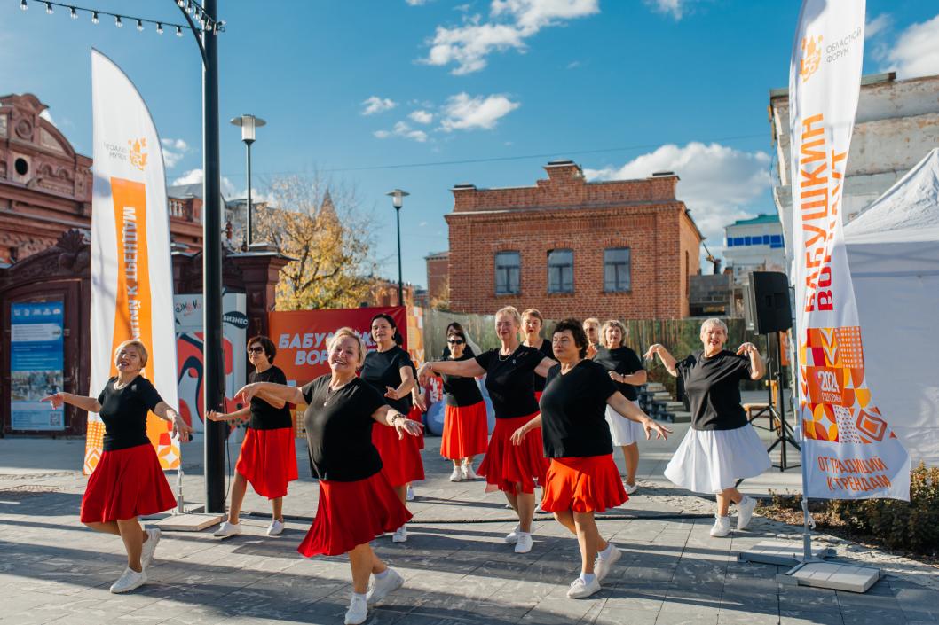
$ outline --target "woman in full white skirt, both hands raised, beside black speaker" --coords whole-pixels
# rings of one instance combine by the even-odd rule
[[[736,353],[724,349],[727,326],[720,319],[701,324],[704,349],[676,361],[655,343],[645,358],[658,355],[674,376],[682,376],[691,404],[691,429],[665,469],[665,477],[695,493],[715,493],[717,513],[711,536],[731,533],[728,516],[731,501],[737,505],[737,529],[750,523],[756,501],[741,495],[734,484],[753,478],[771,465],[760,436],[747,423],[740,404],[740,381],[759,380],[766,373],[753,343],[740,345]]]

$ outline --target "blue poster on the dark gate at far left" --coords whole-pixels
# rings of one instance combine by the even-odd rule
[[[10,426],[13,430],[65,430],[65,411],[39,400],[62,390],[65,355],[63,303],[10,306]]]

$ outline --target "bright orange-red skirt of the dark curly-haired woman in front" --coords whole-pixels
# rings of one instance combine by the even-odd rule
[[[546,512],[602,512],[629,499],[613,455],[552,458],[541,509]]]

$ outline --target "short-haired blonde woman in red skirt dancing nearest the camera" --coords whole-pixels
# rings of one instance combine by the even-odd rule
[[[245,401],[265,393],[290,404],[307,404],[303,425],[310,466],[319,479],[319,506],[297,551],[307,557],[348,554],[352,598],[347,625],[362,623],[368,605],[404,583],[368,544],[403,526],[411,516],[381,470],[381,456],[372,444],[373,425],[399,439],[422,431],[420,423],[386,404],[384,397],[356,377],[364,358],[362,338],[352,328],[341,328],[329,345],[330,374],[320,375],[301,389],[257,382],[239,390]],[[375,582],[368,588],[370,575]]]

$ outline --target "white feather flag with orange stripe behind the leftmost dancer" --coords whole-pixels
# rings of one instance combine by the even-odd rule
[[[143,342],[143,374],[177,405],[176,334],[169,213],[160,137],[144,100],[111,59],[91,51],[94,187],[91,215],[91,385],[117,374],[114,351]],[[164,469],[179,466],[169,424],[149,415],[146,434]],[[85,473],[98,464],[104,424],[88,414]]]

